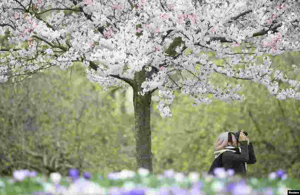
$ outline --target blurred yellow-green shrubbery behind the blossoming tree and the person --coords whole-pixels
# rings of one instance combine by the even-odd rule
[[[0,46],[10,47],[7,37],[1,36]],[[262,58],[257,64],[259,61]],[[272,67],[287,71],[291,64],[300,67],[299,62],[299,52],[289,52],[278,55]],[[300,79],[299,73],[287,74],[290,79]],[[244,102],[213,99],[210,105],[193,107],[189,96],[177,92],[171,107],[173,116],[163,118],[152,101],[154,172],[208,171],[217,136],[244,130],[257,159],[256,164],[247,166],[248,176],[261,177],[282,168],[299,178],[300,102],[279,101],[253,81],[212,76],[216,85],[224,86],[226,81],[233,86],[244,84],[240,92],[246,97]],[[0,84],[0,91],[2,176],[15,169],[64,175],[70,167],[105,175],[136,169],[132,89],[103,92],[88,81],[82,66],[74,63],[66,71],[54,66],[17,84]]]

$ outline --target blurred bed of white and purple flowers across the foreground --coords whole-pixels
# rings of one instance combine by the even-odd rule
[[[267,178],[242,178],[233,170],[214,170],[215,177],[202,172],[149,174],[139,169],[137,173],[123,170],[109,173],[107,177],[92,176],[70,169],[69,177],[51,173],[47,178],[29,170],[18,170],[13,178],[0,179],[0,194],[16,195],[283,195],[288,190],[300,189],[299,183],[288,178],[283,170],[270,173]]]

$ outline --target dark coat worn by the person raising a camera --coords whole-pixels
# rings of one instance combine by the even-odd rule
[[[213,170],[217,167],[223,167],[225,170],[233,169],[235,174],[246,174],[245,162],[247,164],[256,163],[256,157],[253,150],[253,145],[247,141],[240,142],[241,152],[226,151],[220,154],[212,163],[208,174],[214,175]]]

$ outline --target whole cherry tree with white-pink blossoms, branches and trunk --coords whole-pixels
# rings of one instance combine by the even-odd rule
[[[2,0],[0,8],[0,32],[14,46],[1,48],[0,80],[19,82],[51,66],[64,70],[81,62],[104,90],[132,87],[137,168],[150,172],[152,100],[162,117],[172,116],[175,90],[189,94],[194,105],[210,103],[207,94],[244,100],[237,93],[243,86],[213,86],[212,73],[265,85],[280,100],[300,99],[300,82],[272,67],[276,55],[300,52],[297,0]],[[41,17],[51,10],[50,18]],[[223,65],[209,61],[207,52]],[[272,57],[256,64],[265,54]],[[279,81],[290,88],[280,88]]]

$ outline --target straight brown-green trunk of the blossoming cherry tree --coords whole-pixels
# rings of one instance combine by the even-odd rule
[[[142,90],[141,84],[145,81],[145,69],[134,75],[134,117],[136,130],[137,169],[145,168],[153,173],[151,152],[151,93],[138,95]]]

